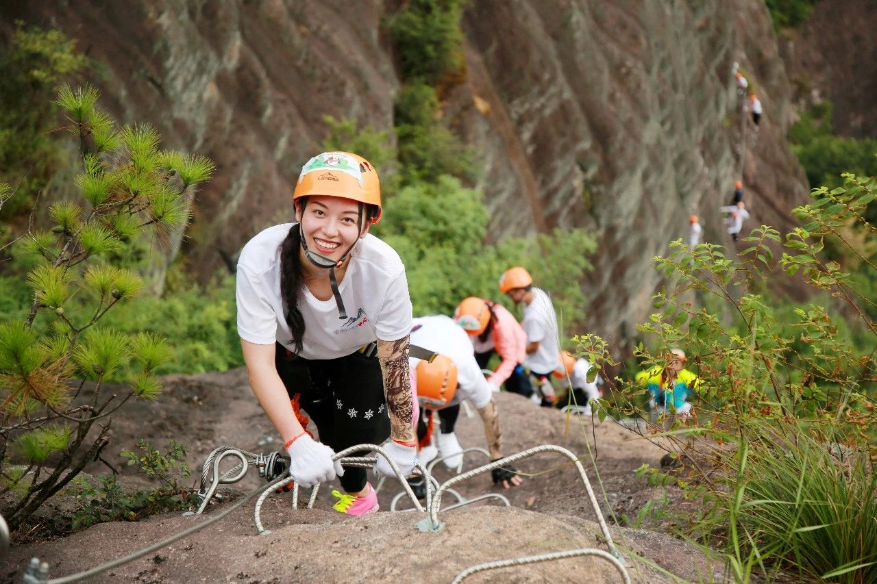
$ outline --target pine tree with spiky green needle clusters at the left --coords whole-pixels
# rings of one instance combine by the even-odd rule
[[[144,287],[136,270],[145,265],[147,246],[156,234],[185,226],[189,185],[213,171],[212,162],[201,156],[162,151],[152,126],[117,130],[97,109],[97,98],[93,88],[65,86],[56,102],[82,148],[82,174],[75,177],[82,199],[53,203],[51,228],[25,233],[6,247],[11,261],[0,265],[12,276],[4,275],[0,285],[12,288],[15,297],[22,296],[11,281],[22,272],[33,290],[30,310],[11,310],[0,321],[0,399],[7,414],[0,426],[0,473],[12,476],[5,470],[15,457],[33,466],[32,479],[22,482],[22,474],[7,485],[21,495],[4,509],[12,530],[99,452],[110,424],[89,435],[97,420],[131,397],[160,394],[155,375],[173,354],[160,331],[114,329],[106,317],[115,316],[118,307],[134,306],[132,299]],[[107,148],[112,150],[104,152]],[[217,316],[203,315],[197,305],[188,307],[191,314]],[[217,318],[219,326],[227,320]],[[91,384],[83,391],[85,381]],[[128,386],[102,391],[106,381]],[[63,431],[65,440],[56,430],[61,420],[72,423]],[[52,452],[57,456],[53,469],[47,469]]]

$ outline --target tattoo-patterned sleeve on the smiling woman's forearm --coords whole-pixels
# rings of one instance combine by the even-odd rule
[[[415,442],[411,381],[408,367],[409,336],[395,341],[378,339],[378,360],[381,362],[384,396],[387,398],[390,438],[399,442]]]

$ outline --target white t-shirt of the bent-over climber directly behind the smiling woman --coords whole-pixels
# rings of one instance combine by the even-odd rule
[[[478,367],[472,353],[468,334],[453,318],[437,315],[417,317],[413,321],[411,344],[424,347],[434,353],[448,357],[457,366],[457,392],[448,405],[469,400],[475,408],[481,409],[490,402],[493,386],[488,382],[481,367]],[[411,358],[410,367],[414,369],[420,360]],[[415,379],[412,375],[411,379]]]

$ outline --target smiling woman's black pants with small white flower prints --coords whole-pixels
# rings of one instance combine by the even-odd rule
[[[289,398],[300,395],[302,410],[317,425],[320,442],[335,452],[358,444],[380,445],[389,438],[389,415],[376,356],[353,353],[330,360],[307,360],[275,346],[277,373]],[[365,456],[354,452],[351,456]],[[346,467],[341,487],[355,493],[366,487],[365,468]]]

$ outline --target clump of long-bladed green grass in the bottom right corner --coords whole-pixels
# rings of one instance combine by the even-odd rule
[[[782,569],[802,580],[877,582],[877,475],[866,454],[800,427],[755,424],[746,438],[726,512],[712,517],[731,526],[728,575],[745,581],[754,566],[773,566],[769,580]]]

